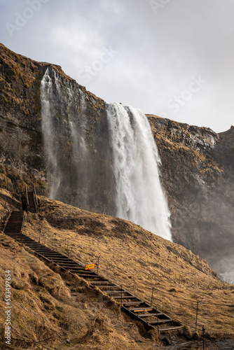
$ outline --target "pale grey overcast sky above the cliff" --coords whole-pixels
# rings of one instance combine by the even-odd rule
[[[0,0],[1,43],[106,102],[234,125],[234,0]]]

